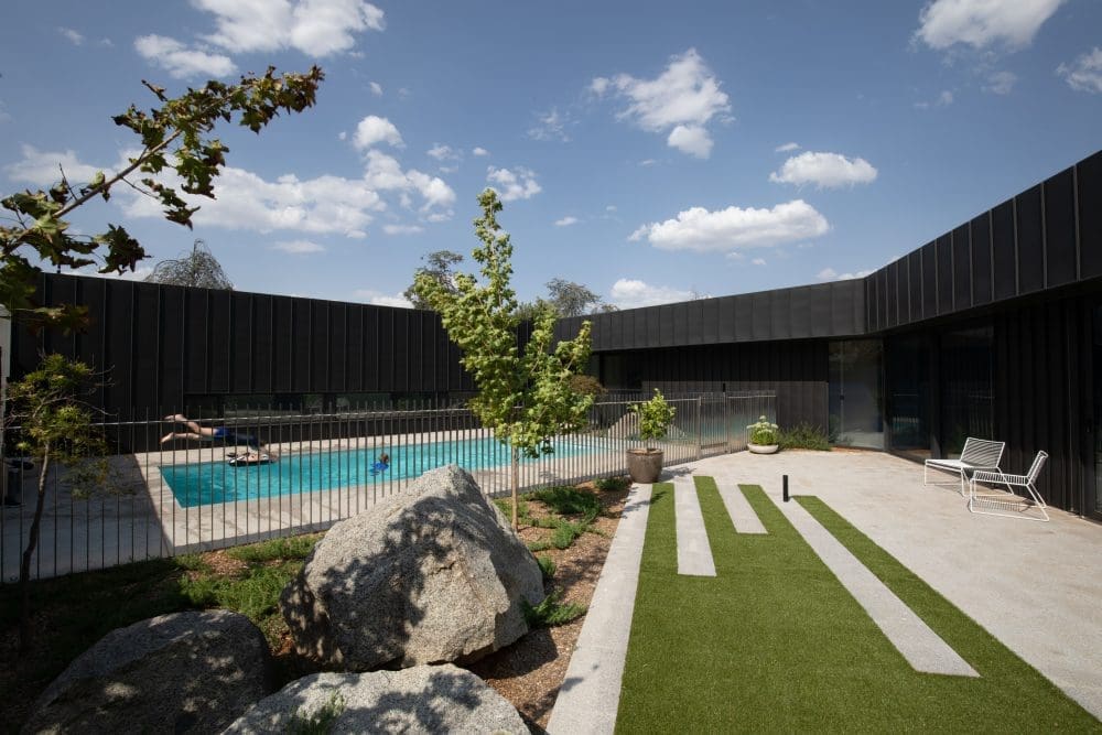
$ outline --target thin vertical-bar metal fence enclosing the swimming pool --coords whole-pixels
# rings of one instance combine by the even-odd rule
[[[628,407],[647,398],[616,393],[595,402],[584,430],[557,436],[551,454],[521,460],[521,489],[626,474],[626,451],[644,446]],[[666,466],[744,450],[748,424],[763,414],[776,419],[776,397],[767,391],[667,401],[677,409],[673,425],[665,440],[648,442],[665,451]],[[324,530],[452,463],[468,469],[489,496],[510,490],[508,447],[466,408],[266,409],[194,420],[100,424],[112,454],[105,486],[89,497],[72,491],[64,471],[51,471],[32,576]],[[197,436],[184,436],[196,426]],[[14,434],[6,446],[14,445]],[[258,450],[269,462],[238,463]],[[386,467],[378,464],[383,455]],[[8,583],[19,575],[40,477],[18,461],[3,466],[0,569]]]

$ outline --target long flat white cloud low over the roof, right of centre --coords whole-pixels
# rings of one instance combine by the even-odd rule
[[[630,240],[646,238],[662,250],[731,252],[819,237],[830,229],[827,218],[803,199],[778,204],[771,209],[731,206],[709,212],[692,207],[676,219],[642,225]]]

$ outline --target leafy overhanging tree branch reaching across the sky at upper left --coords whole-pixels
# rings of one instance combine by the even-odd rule
[[[164,88],[142,82],[161,107],[145,112],[131,105],[114,118],[116,125],[141,138],[141,152],[126,167],[110,175],[99,172],[86,183],[69,182],[61,171],[61,181],[48,192],[25,191],[0,199],[0,207],[7,210],[0,218],[14,223],[0,226],[0,305],[13,316],[39,324],[80,326],[86,310],[72,304],[34,307],[32,298],[41,272],[37,262],[82,268],[98,258],[102,261],[99,272],[122,273],[133,270],[145,251],[117,225],[108,225],[99,235],[69,234],[66,217],[94,198],[106,202],[111,188],[122,182],[159,199],[166,219],[191,228],[198,207],[191,206],[181,193],[214,198],[214,177],[229,150],[209,136],[215,126],[236,118],[239,125],[260,132],[281,110],[301,112],[313,106],[323,78],[316,66],[305,74],[279,76],[269,67],[262,76],[242,76],[239,84],[212,80],[171,99]],[[179,177],[179,192],[158,179],[166,170]],[[129,179],[132,174],[138,181]]]

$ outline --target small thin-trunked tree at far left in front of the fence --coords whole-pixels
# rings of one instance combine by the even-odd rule
[[[91,410],[83,400],[94,389],[93,377],[91,368],[84,363],[47,355],[39,369],[9,389],[12,411],[7,425],[17,430],[20,453],[39,464],[34,516],[19,565],[22,650],[31,646],[31,560],[39,544],[50,473],[54,472],[76,496],[102,486],[107,476],[107,444],[95,431]]]

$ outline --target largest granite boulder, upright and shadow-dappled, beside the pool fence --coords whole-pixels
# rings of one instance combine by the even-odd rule
[[[300,653],[348,671],[467,662],[522,636],[536,558],[452,465],[336,523],[283,590]]]

